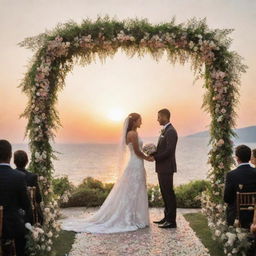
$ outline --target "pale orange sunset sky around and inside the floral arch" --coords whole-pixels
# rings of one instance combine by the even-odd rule
[[[232,49],[249,66],[242,77],[238,106],[238,127],[255,125],[256,81],[256,4],[253,1],[154,1],[154,0],[53,0],[0,1],[0,137],[22,142],[26,120],[19,119],[26,96],[17,88],[32,56],[17,46],[25,37],[51,29],[58,22],[82,18],[94,19],[109,14],[123,18],[148,18],[166,22],[173,16],[178,22],[191,17],[207,17],[211,28],[235,28]],[[109,118],[112,110],[124,115],[139,112],[143,116],[142,136],[157,136],[157,111],[167,107],[180,135],[207,129],[210,122],[201,110],[202,81],[193,84],[189,63],[173,66],[166,57],[156,62],[150,56],[129,59],[118,52],[105,64],[99,61],[86,67],[75,66],[59,93],[58,110],[63,128],[57,142],[112,142],[119,137],[121,122]]]

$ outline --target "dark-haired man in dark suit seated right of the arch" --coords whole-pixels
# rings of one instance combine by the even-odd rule
[[[227,224],[232,226],[237,216],[236,192],[256,192],[256,169],[251,167],[251,149],[240,145],[235,150],[238,167],[227,173],[224,191],[224,201],[227,207]],[[240,185],[240,186],[239,186]],[[243,190],[241,191],[241,188]],[[243,228],[250,228],[253,220],[253,211],[240,213],[240,224]]]

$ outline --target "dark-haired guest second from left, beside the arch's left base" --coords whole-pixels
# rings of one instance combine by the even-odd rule
[[[37,203],[37,215],[39,217],[39,222],[42,223],[42,212],[40,208],[40,202],[42,201],[40,188],[38,185],[38,176],[35,173],[27,171],[26,165],[28,164],[28,155],[23,150],[17,150],[14,152],[14,163],[16,165],[16,170],[23,173],[26,177],[26,183],[28,187],[36,187],[35,200]]]

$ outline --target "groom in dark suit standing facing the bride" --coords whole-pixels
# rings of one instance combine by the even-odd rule
[[[162,198],[164,201],[164,218],[154,221],[159,228],[176,228],[176,196],[173,190],[173,174],[177,171],[175,150],[178,135],[170,123],[170,111],[162,109],[158,112],[160,125],[163,125],[157,144],[157,151],[153,154],[156,161],[156,172]]]

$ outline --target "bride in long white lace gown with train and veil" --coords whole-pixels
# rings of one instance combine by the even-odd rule
[[[153,161],[142,152],[138,137],[141,116],[131,113],[124,122],[120,156],[130,151],[126,168],[119,167],[119,178],[100,209],[87,219],[65,222],[63,229],[75,232],[116,233],[134,231],[149,225],[146,171],[143,160]]]

